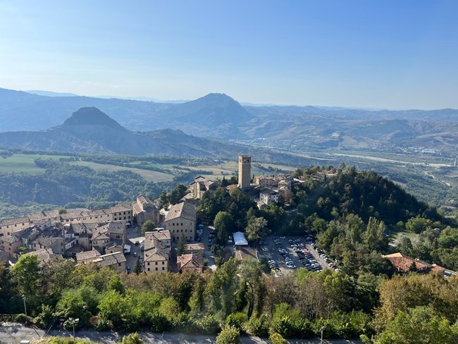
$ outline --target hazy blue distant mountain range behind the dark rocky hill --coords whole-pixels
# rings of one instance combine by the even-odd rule
[[[213,137],[292,151],[329,148],[386,151],[407,147],[451,154],[458,151],[458,110],[455,109],[390,111],[323,106],[242,106],[226,94],[215,93],[183,103],[60,95],[48,97],[0,89],[0,132],[49,132],[51,129],[47,128],[61,128],[59,124],[69,113],[94,106],[109,113],[114,121],[135,135],[171,129],[180,130],[180,135],[192,135],[194,139]],[[137,133],[140,130],[142,133]],[[176,142],[178,137],[175,137],[175,145],[180,145]],[[81,140],[81,136],[75,137],[74,145],[76,142],[82,145]],[[131,150],[137,149],[142,151],[140,147]]]

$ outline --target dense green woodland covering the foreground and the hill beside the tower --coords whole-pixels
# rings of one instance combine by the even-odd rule
[[[20,314],[20,295],[27,295],[30,318],[11,317],[43,328],[54,319],[68,327],[73,317],[99,331],[219,333],[218,343],[237,343],[240,333],[283,343],[321,331],[365,343],[457,343],[458,278],[414,269],[400,276],[381,257],[389,252],[387,228],[402,227],[420,236],[414,243],[404,238],[398,250],[457,269],[456,223],[376,173],[340,166],[304,168],[295,176],[304,183],[261,210],[235,187],[203,199],[201,221],[217,231],[213,273],[117,274],[72,259],[39,266],[23,256],[0,269],[0,313]],[[161,199],[174,203],[183,192],[178,185]],[[264,262],[233,259],[224,248],[237,230],[254,245],[271,233],[315,236],[340,271],[269,275]]]

